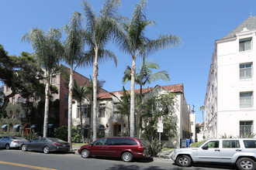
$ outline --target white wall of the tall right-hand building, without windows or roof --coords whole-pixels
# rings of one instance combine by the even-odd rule
[[[239,52],[239,39],[252,38],[251,50]],[[217,40],[213,62],[209,72],[209,86],[213,83],[213,93],[207,86],[205,108],[206,138],[220,138],[227,134],[240,134],[240,121],[253,121],[256,130],[256,37],[255,31],[240,32],[236,38]],[[252,78],[240,80],[240,63],[252,63]],[[253,107],[240,108],[240,92],[253,92]],[[213,114],[211,107],[214,107]]]

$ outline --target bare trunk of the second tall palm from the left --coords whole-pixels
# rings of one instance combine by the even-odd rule
[[[73,66],[70,68],[70,80],[68,84],[68,121],[67,121],[67,141],[70,145],[72,145],[71,141],[71,127],[72,127],[72,99],[73,99],[73,87],[74,87],[74,71]],[[71,146],[72,148],[72,146]]]

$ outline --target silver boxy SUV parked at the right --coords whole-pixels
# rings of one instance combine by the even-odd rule
[[[175,149],[171,159],[179,166],[192,162],[227,163],[244,170],[256,169],[255,138],[222,138],[205,141],[197,148]]]

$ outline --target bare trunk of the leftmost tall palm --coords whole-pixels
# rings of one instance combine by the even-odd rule
[[[48,115],[49,115],[49,81],[45,87],[45,104],[44,104],[44,120],[43,120],[43,138],[47,138]]]

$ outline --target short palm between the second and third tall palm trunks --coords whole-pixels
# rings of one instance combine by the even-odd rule
[[[89,96],[90,96],[90,90],[89,88],[86,86],[86,83],[84,83],[83,86],[79,86],[78,83],[74,80],[74,91],[73,91],[73,97],[75,100],[78,100],[78,104],[80,106],[80,125],[81,125],[81,138],[83,143],[85,143],[85,138],[83,135],[83,120],[82,120],[82,110],[81,110],[81,106],[82,106],[82,102],[83,100],[88,100],[89,101]]]

